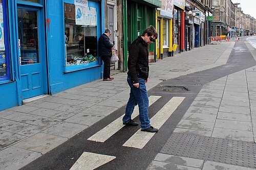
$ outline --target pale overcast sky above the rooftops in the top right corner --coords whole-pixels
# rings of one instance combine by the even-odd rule
[[[233,3],[240,3],[244,14],[249,14],[256,19],[256,0],[232,0]]]

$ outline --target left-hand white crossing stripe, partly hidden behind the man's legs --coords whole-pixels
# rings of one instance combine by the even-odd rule
[[[156,96],[156,95],[151,95],[148,100],[149,100],[149,106],[151,106],[153,103],[155,103],[161,96]],[[134,112],[132,114],[132,119],[134,119],[136,116],[139,115],[139,108],[136,106],[134,108]],[[108,126],[104,127],[91,137],[89,137],[87,140],[92,140],[92,141],[97,141],[97,142],[104,142],[111,136],[113,136],[116,132],[118,132],[122,127],[125,125],[122,124],[122,118],[123,115],[115,119],[111,124]]]

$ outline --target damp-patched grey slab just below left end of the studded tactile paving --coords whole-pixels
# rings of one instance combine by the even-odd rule
[[[182,156],[168,155],[168,154],[157,154],[154,159],[155,161],[166,162],[166,163],[174,163],[177,165],[183,166],[191,166],[191,167],[203,167],[203,160],[194,159],[194,158],[186,158]]]

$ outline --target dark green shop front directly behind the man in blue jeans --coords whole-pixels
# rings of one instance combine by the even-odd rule
[[[141,35],[143,30],[152,25],[156,27],[156,8],[161,7],[158,0],[123,0],[123,47],[124,47],[124,69],[127,70],[127,57],[129,46]],[[156,61],[156,46],[151,43],[148,48],[148,61]]]

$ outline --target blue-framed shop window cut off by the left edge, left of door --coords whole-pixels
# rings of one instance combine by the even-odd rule
[[[0,0],[0,83],[11,80],[7,1]]]

